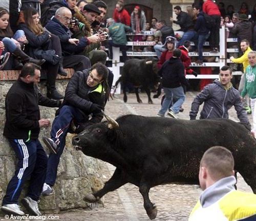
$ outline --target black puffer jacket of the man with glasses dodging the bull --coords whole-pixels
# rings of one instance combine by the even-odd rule
[[[91,68],[77,71],[67,85],[62,106],[69,105],[78,108],[84,116],[91,114],[92,104],[98,104],[104,110],[105,94],[102,84],[96,87],[89,87],[86,83]],[[90,122],[100,122],[102,113],[93,114]]]

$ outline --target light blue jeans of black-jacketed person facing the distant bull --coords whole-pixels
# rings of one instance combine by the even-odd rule
[[[173,104],[173,106],[172,106],[172,108],[170,108],[170,110],[172,110],[175,114],[178,114],[180,111],[181,105],[185,101],[185,94],[184,94],[183,87],[182,86],[176,87],[176,88],[163,87],[163,91],[165,93],[165,98],[163,100],[162,107],[161,107],[160,111],[158,112],[158,114],[160,114],[160,115],[165,114],[165,112],[168,110],[170,104],[173,102],[173,97],[175,97],[177,99],[177,101]]]

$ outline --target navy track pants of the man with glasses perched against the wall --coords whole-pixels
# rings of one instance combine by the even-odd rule
[[[45,183],[51,186],[55,184],[57,178],[59,158],[65,148],[67,133],[74,133],[69,130],[70,123],[73,119],[77,123],[87,120],[77,108],[65,105],[61,107],[59,114],[52,123],[51,139],[58,144],[59,150],[57,154],[50,154],[48,159]]]

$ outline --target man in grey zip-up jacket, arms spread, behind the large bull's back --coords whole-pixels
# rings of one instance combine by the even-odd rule
[[[233,88],[232,72],[228,66],[220,70],[220,80],[204,87],[200,94],[194,99],[189,116],[191,120],[196,119],[199,106],[204,103],[200,113],[200,119],[206,118],[228,118],[228,110],[234,106],[240,122],[250,130],[250,123],[240,99],[240,93]]]

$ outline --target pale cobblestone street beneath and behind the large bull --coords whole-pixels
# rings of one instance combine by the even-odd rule
[[[188,92],[186,101],[182,106],[184,112],[179,114],[180,118],[188,119],[191,102],[196,92]],[[160,109],[160,98],[154,99],[154,104],[147,104],[147,96],[140,93],[142,104],[138,104],[135,94],[128,94],[127,103],[123,103],[122,95],[115,95],[114,101],[108,102],[105,113],[113,118],[124,114],[139,114],[144,116],[156,116]],[[234,109],[229,111],[230,117],[237,119]],[[251,122],[251,115],[249,115]],[[136,130],[136,129],[135,129]],[[195,137],[195,139],[197,139]],[[102,162],[102,176],[107,181],[115,169],[114,166]],[[238,176],[238,189],[252,192],[241,176]],[[150,198],[158,208],[156,221],[185,221],[188,219],[191,209],[196,204],[201,189],[197,185],[162,185],[151,189]],[[138,187],[125,184],[118,190],[109,192],[104,196],[104,207],[93,205],[88,210],[75,210],[63,212],[59,215],[61,221],[144,221],[150,220],[143,208],[143,199]],[[6,220],[6,219],[3,219]]]

